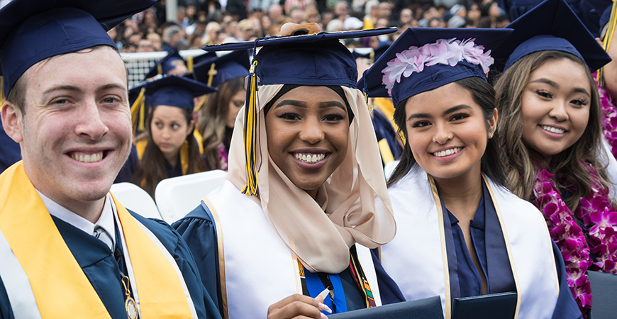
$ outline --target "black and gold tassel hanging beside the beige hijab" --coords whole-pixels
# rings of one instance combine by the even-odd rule
[[[257,128],[257,101],[255,101],[257,98],[255,66],[257,66],[257,60],[252,62],[249,73],[249,85],[246,90],[248,95],[246,101],[248,103],[245,109],[244,146],[248,178],[242,192],[243,194],[259,197],[259,190],[257,189],[257,154],[255,152],[255,148],[257,147],[257,130],[259,129]]]

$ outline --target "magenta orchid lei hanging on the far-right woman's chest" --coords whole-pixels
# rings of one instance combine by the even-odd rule
[[[575,213],[566,206],[555,189],[553,175],[545,169],[538,172],[533,186],[533,203],[543,213],[550,237],[562,253],[568,286],[585,318],[591,308],[587,270],[617,274],[617,210],[608,198],[608,189],[600,186],[598,174],[591,165],[589,173],[591,191],[587,198],[580,199]],[[577,225],[574,216],[582,220],[585,229]],[[596,262],[589,252],[596,254]]]

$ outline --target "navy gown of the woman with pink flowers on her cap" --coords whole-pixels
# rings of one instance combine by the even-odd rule
[[[516,291],[504,234],[501,232],[491,196],[484,182],[482,189],[482,199],[470,224],[470,233],[478,262],[487,278],[487,293]],[[445,208],[443,201],[441,205],[445,212],[443,223],[448,250],[451,296],[452,298],[479,296],[482,294],[482,278],[467,250],[458,220]],[[552,242],[552,250],[560,283],[552,318],[582,318],[567,285],[563,258],[555,242]]]

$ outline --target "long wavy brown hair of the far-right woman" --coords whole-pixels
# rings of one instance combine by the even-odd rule
[[[579,57],[568,52],[545,50],[531,53],[514,63],[497,79],[495,103],[501,111],[499,126],[508,131],[508,135],[501,136],[499,140],[500,144],[504,145],[504,162],[508,169],[510,189],[517,196],[532,201],[533,183],[535,175],[538,174],[535,159],[540,158],[541,155],[528,147],[522,139],[523,90],[532,72],[548,61],[559,59],[568,59],[580,65],[587,75],[580,81],[587,81],[591,87],[587,128],[581,138],[574,142],[574,145],[553,156],[547,167],[547,170],[555,175],[553,181],[557,188],[572,191],[572,196],[564,198],[564,201],[568,208],[574,211],[580,203],[580,198],[587,196],[591,191],[589,164],[592,164],[598,172],[601,186],[608,185],[605,165],[599,160],[604,156],[603,152],[600,152],[602,147],[601,104],[589,67]]]

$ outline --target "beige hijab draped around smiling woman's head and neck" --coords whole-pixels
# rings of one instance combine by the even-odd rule
[[[268,155],[262,108],[282,84],[260,86],[257,92],[260,110],[256,167],[260,198],[251,197],[262,206],[289,250],[311,272],[343,272],[355,242],[374,248],[392,240],[396,233],[367,105],[359,90],[342,87],[355,115],[349,130],[348,153],[318,190],[316,200],[294,185]],[[227,174],[238,189],[243,189],[247,181],[243,128],[244,108],[235,122]],[[377,213],[376,200],[387,208],[385,213]]]

